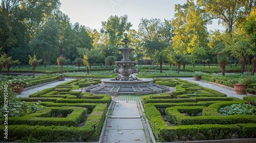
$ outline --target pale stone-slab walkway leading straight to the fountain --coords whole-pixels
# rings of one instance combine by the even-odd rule
[[[141,96],[112,96],[112,99],[114,104],[103,142],[151,142],[140,106]]]

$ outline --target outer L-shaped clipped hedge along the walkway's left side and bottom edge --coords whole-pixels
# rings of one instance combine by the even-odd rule
[[[30,135],[41,142],[98,141],[107,109],[106,104],[97,104],[83,127],[9,125],[8,140],[0,136],[0,141],[22,140]],[[0,125],[0,130],[4,129],[5,125]]]

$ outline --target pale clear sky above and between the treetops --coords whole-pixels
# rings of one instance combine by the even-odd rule
[[[132,29],[138,30],[140,19],[160,18],[171,20],[174,18],[175,4],[184,4],[186,0],[60,0],[60,10],[70,17],[70,22],[91,29],[101,28],[101,21],[106,21],[111,15],[128,16]],[[208,30],[225,28],[217,24],[217,20]]]

